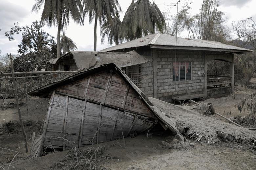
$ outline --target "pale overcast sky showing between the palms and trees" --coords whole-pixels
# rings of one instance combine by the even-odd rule
[[[123,11],[129,7],[131,1],[130,0],[118,0]],[[186,1],[191,3],[191,15],[199,12],[201,4],[203,0],[181,0],[179,5],[179,9],[184,6],[184,2]],[[176,13],[174,5],[176,1],[174,0],[154,0],[154,2],[158,5],[161,11],[170,11],[171,15]],[[15,35],[15,41],[9,41],[7,37],[4,36],[4,33],[13,26],[13,23],[19,23],[22,25],[31,25],[33,21],[40,20],[41,11],[38,13],[32,13],[31,9],[35,0],[0,0],[0,27],[2,31],[0,32],[0,49],[1,55],[5,55],[6,53],[17,54],[18,44],[21,42],[21,35]],[[249,17],[253,17],[256,19],[256,0],[221,0],[220,10],[225,12],[225,16],[227,17],[226,25],[230,28],[232,21],[239,21],[242,19],[246,19]],[[124,12],[120,14],[121,20],[123,18]],[[72,21],[70,22],[69,27],[65,30],[66,36],[70,37],[78,47],[80,51],[92,51],[93,50],[93,28],[94,24],[89,24],[88,20],[85,21],[83,26],[78,26]],[[110,45],[107,42],[101,44],[101,38],[99,35],[99,26],[97,27],[97,50],[101,50],[109,47]],[[48,28],[45,26],[44,30],[51,35],[57,37],[57,28],[52,27]],[[181,35],[183,37],[186,34]]]

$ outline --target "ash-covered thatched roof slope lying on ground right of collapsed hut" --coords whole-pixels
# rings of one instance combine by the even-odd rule
[[[209,117],[192,110],[193,107],[177,106],[155,98],[149,100],[160,110],[176,119],[177,128],[186,137],[196,142],[215,144],[223,140],[216,134],[216,131],[223,131],[230,135],[239,144],[256,145],[256,132],[243,127],[223,122],[215,117]]]

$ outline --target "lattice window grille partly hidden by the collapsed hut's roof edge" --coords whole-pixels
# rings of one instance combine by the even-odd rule
[[[123,67],[122,70],[125,74],[133,81],[137,87],[141,87],[141,65],[132,65],[128,67]]]

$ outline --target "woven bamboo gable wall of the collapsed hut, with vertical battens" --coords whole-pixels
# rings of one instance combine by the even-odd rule
[[[103,72],[56,89],[42,145],[65,150],[74,142],[81,147],[111,141],[150,128],[155,118],[118,74]]]

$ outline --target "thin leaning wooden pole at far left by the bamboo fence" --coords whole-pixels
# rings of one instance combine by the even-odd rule
[[[27,135],[26,135],[26,132],[25,132],[25,129],[24,129],[24,126],[23,126],[23,121],[22,121],[22,117],[21,117],[21,113],[20,113],[18,90],[17,90],[17,84],[16,84],[15,77],[14,77],[14,69],[13,69],[13,62],[12,62],[11,54],[10,54],[10,59],[11,59],[12,81],[13,81],[13,87],[14,87],[14,92],[15,92],[16,106],[17,106],[17,110],[18,110],[19,118],[20,118],[20,126],[21,126],[21,130],[22,130],[22,133],[23,133],[23,136],[24,136],[26,152],[29,152],[28,144],[27,144]]]

